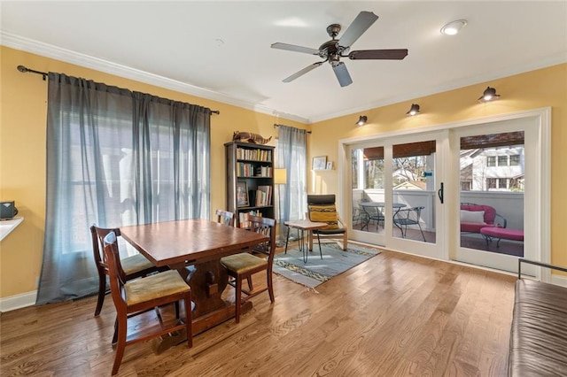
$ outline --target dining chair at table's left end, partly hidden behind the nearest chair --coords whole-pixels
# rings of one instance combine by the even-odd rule
[[[90,235],[92,239],[92,252],[95,258],[95,265],[97,265],[98,272],[98,298],[97,308],[95,309],[95,317],[100,314],[105,303],[105,296],[109,292],[106,290],[106,276],[108,275],[108,268],[103,263],[103,240],[110,232],[114,235],[120,236],[119,228],[105,228],[93,225],[90,227]],[[159,271],[166,271],[167,267],[158,268],[145,258],[142,254],[136,254],[128,258],[120,259],[120,265],[125,273],[125,281],[137,279],[147,276],[150,273],[157,273]]]

